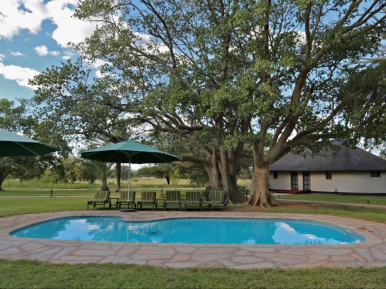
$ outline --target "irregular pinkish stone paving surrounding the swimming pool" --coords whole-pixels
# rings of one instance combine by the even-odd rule
[[[72,216],[121,216],[128,221],[198,218],[281,218],[331,223],[366,238],[347,245],[243,245],[89,242],[17,238],[10,232],[39,221]],[[126,263],[169,266],[227,266],[231,268],[309,268],[386,266],[386,224],[337,216],[179,211],[71,211],[0,218],[0,258],[67,263]]]

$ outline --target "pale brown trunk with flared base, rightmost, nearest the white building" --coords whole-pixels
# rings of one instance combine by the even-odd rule
[[[269,165],[254,166],[252,175],[251,193],[248,204],[252,206],[269,207],[271,197],[268,194]]]

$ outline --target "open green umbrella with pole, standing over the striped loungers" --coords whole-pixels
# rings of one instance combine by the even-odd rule
[[[131,164],[155,164],[180,160],[180,158],[175,155],[168,154],[162,150],[157,150],[132,140],[86,150],[85,152],[82,152],[81,157],[102,162],[129,163],[127,201],[129,201]]]

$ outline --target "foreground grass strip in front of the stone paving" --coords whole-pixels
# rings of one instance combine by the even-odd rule
[[[0,288],[384,288],[385,267],[172,269],[127,264],[0,260]]]

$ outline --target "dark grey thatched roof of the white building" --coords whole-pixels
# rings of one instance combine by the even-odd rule
[[[323,151],[318,156],[286,154],[274,162],[270,171],[386,171],[386,160],[359,147],[351,149],[341,142],[334,156],[332,150]]]

